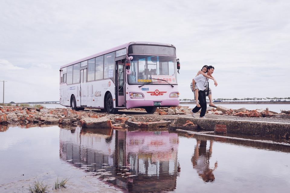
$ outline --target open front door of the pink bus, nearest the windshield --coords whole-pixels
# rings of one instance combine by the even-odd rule
[[[116,106],[125,107],[125,75],[124,75],[124,60],[117,61],[117,76],[116,76]]]

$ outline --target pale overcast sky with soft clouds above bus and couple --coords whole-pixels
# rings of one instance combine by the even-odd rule
[[[213,98],[290,97],[289,10],[287,0],[2,0],[5,102],[58,101],[61,65],[132,41],[176,46],[181,98],[193,98],[203,65],[215,67]]]

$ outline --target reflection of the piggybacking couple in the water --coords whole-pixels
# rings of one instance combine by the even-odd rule
[[[194,154],[191,158],[193,168],[196,169],[198,176],[205,182],[213,182],[213,171],[218,167],[218,162],[214,163],[214,168],[209,167],[209,160],[212,154],[213,141],[210,140],[209,150],[206,150],[206,140],[197,140]]]

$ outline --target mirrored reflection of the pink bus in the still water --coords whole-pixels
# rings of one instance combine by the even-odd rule
[[[73,130],[73,132],[72,132]],[[167,131],[60,131],[60,157],[88,172],[105,169],[129,192],[176,188],[178,136]],[[121,173],[130,175],[121,175]]]

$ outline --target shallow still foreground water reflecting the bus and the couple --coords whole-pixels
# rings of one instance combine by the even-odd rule
[[[28,185],[37,179],[52,187],[58,176],[70,178],[62,192],[288,192],[290,188],[290,148],[283,145],[166,129],[50,126],[1,131],[0,192],[21,188],[20,192],[28,192]]]

